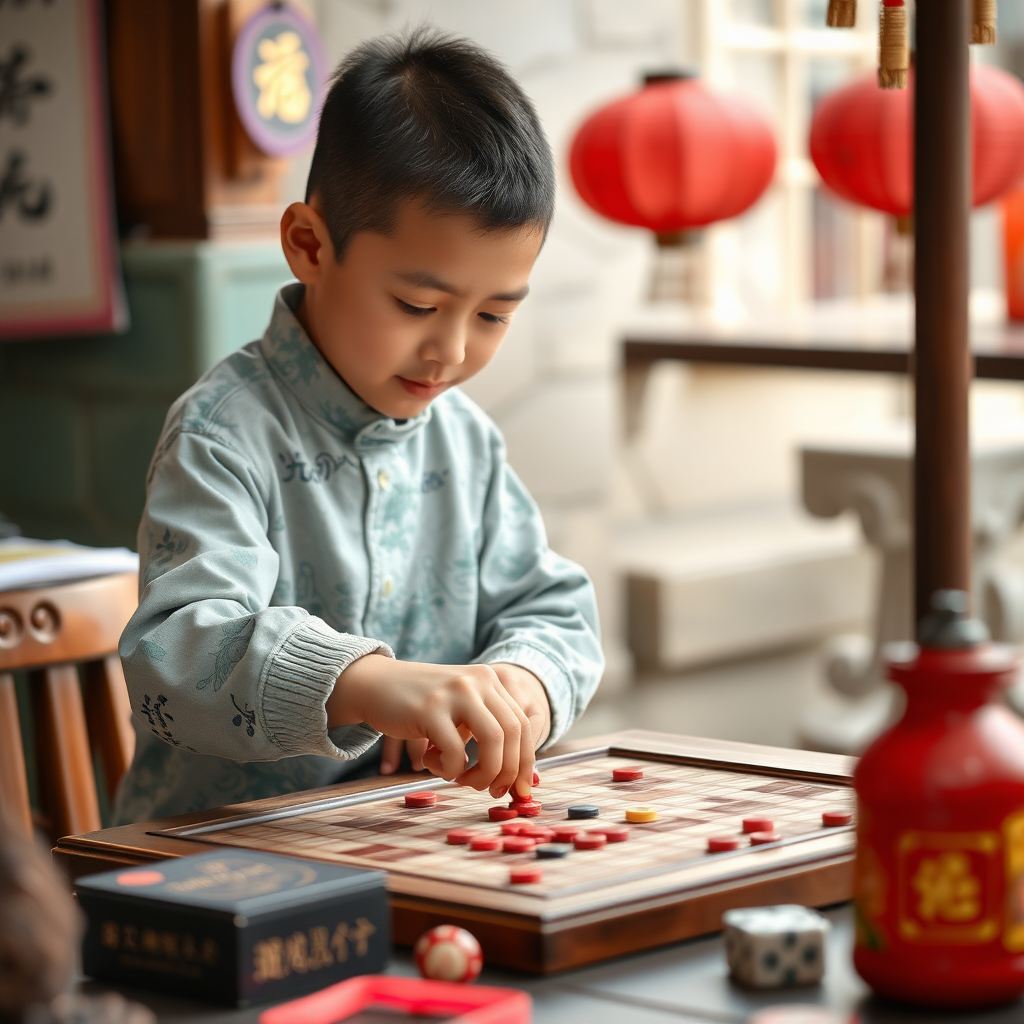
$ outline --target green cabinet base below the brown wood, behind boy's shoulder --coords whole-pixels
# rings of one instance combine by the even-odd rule
[[[121,252],[121,335],[0,344],[0,512],[29,537],[135,547],[168,407],[266,327],[292,278],[276,242]]]

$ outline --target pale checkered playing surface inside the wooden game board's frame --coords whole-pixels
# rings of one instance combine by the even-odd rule
[[[612,781],[612,768],[632,765],[643,768],[641,780]],[[746,858],[750,863],[761,851],[773,847],[705,852],[710,836],[740,833],[744,817],[770,817],[784,842],[799,843],[843,830],[824,829],[822,811],[854,809],[853,791],[843,785],[646,759],[599,757],[541,767],[541,784],[534,796],[544,807],[530,821],[563,823],[566,809],[573,804],[600,808],[599,820],[572,822],[585,830],[601,823],[624,823],[628,807],[653,806],[658,819],[649,824],[630,823],[630,838],[625,843],[608,844],[600,850],[574,850],[562,859],[541,861],[543,882],[514,887],[509,883],[509,868],[536,862],[532,853],[474,852],[446,842],[453,828],[500,835],[501,825],[487,820],[487,808],[496,803],[504,806],[507,801],[443,782],[430,786],[439,798],[433,807],[409,808],[402,796],[378,790],[361,795],[360,802],[350,806],[218,827],[195,838],[390,873],[562,896],[631,878],[657,876],[709,857],[732,867],[739,866],[736,858]],[[408,786],[401,792],[408,792]],[[372,797],[369,801],[368,796]]]

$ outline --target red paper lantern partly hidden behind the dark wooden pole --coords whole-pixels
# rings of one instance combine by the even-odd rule
[[[897,217],[913,207],[913,70],[907,88],[880,89],[872,74],[827,95],[811,122],[811,160],[851,203]],[[1007,72],[971,67],[974,206],[1024,174],[1024,86]]]

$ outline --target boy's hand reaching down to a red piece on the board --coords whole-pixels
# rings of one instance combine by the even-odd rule
[[[328,728],[366,722],[397,739],[426,739],[423,763],[460,785],[526,796],[534,776],[529,719],[486,665],[425,665],[366,654],[335,683]],[[466,742],[477,762],[466,769]]]

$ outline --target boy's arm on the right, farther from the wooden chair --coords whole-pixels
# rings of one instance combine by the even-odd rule
[[[583,714],[604,669],[594,588],[579,565],[548,548],[540,511],[499,441],[494,466],[480,553],[480,654],[474,660],[492,665],[524,701],[535,731],[538,719],[528,703],[540,691],[534,680],[541,684],[550,708],[544,742],[552,743]]]

